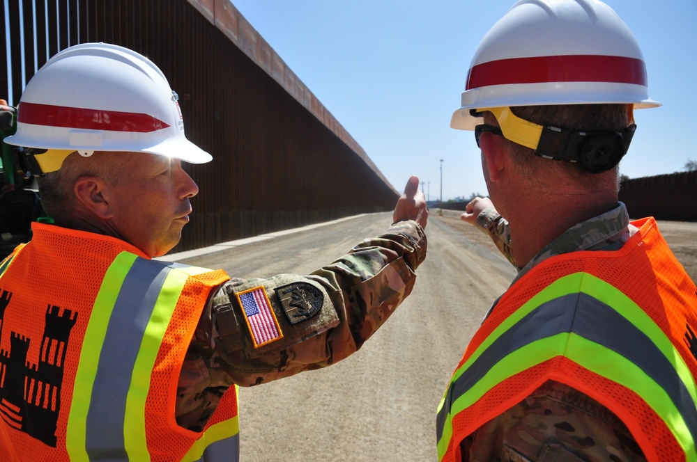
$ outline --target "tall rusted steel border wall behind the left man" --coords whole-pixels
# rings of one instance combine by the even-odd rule
[[[213,154],[209,164],[187,166],[200,192],[174,251],[388,210],[397,200],[229,0],[24,0],[21,9],[3,1],[9,71],[0,73],[0,92],[10,104],[49,56],[81,42],[129,47],[167,75],[187,138]]]

